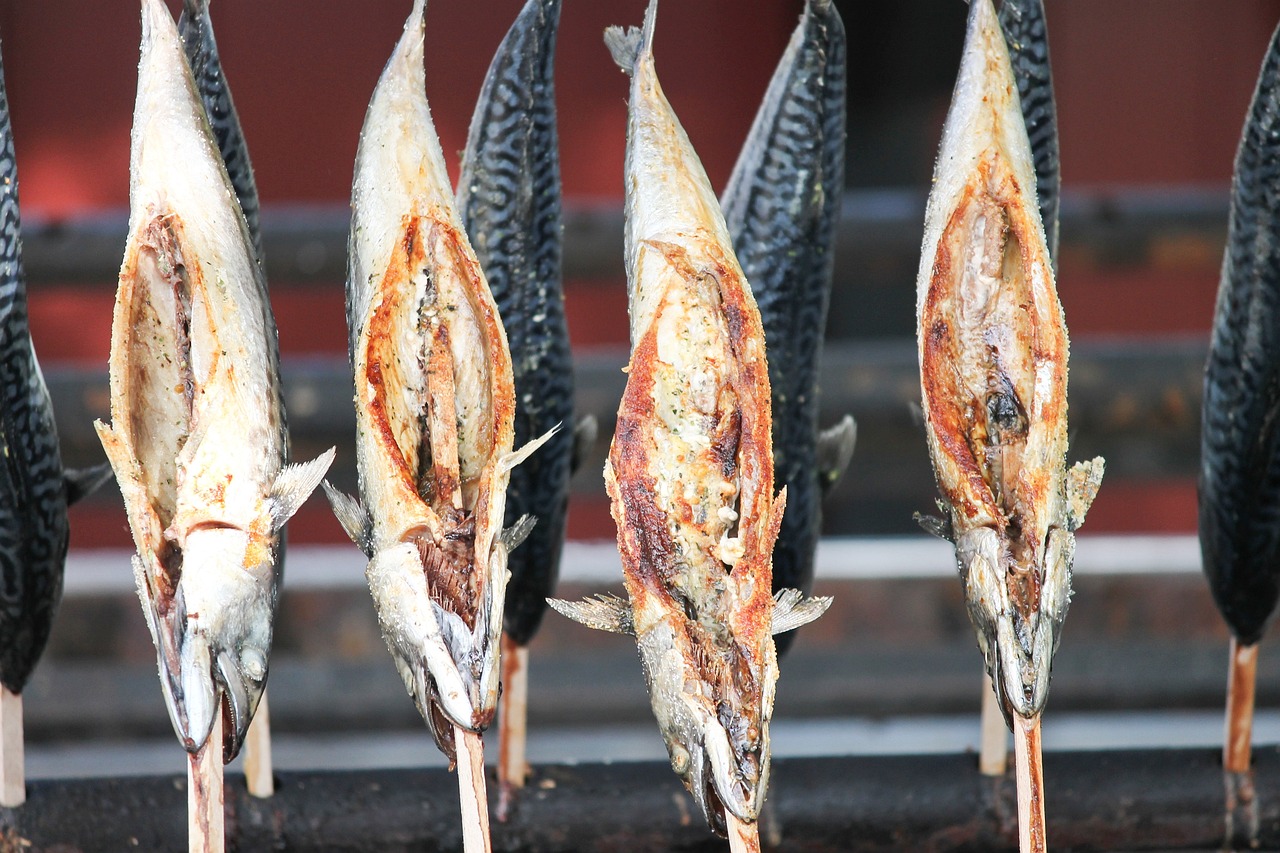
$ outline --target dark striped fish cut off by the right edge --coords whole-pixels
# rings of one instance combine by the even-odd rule
[[[1201,418],[1204,574],[1240,643],[1280,597],[1280,29],[1235,155]]]

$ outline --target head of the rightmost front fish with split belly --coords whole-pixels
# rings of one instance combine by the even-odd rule
[[[1012,567],[1009,546],[993,528],[956,538],[965,603],[1006,722],[1034,717],[1048,698],[1050,671],[1071,597],[1075,537],[1051,528],[1029,567]],[[1036,578],[1034,601],[1020,601],[1018,574]]]

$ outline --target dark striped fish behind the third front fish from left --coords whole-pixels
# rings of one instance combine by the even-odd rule
[[[835,3],[809,0],[722,196],[764,325],[773,473],[787,489],[774,590],[813,589],[823,485],[840,474],[819,470],[818,366],[845,186],[845,53]],[[774,639],[778,654],[794,638]]]

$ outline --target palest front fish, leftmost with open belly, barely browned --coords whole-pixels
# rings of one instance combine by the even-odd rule
[[[285,466],[275,325],[244,218],[160,0],[142,0],[111,424],[142,610],[183,745],[239,751],[266,683],[276,546],[333,451]],[[223,701],[225,698],[225,702]]]

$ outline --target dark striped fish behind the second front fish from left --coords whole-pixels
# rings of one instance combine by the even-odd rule
[[[458,214],[498,304],[516,392],[515,444],[573,418],[573,364],[562,286],[556,31],[559,0],[529,0],[485,77],[458,179]],[[503,628],[526,646],[556,589],[573,432],[561,429],[511,473],[506,524],[536,516],[509,555]]]

